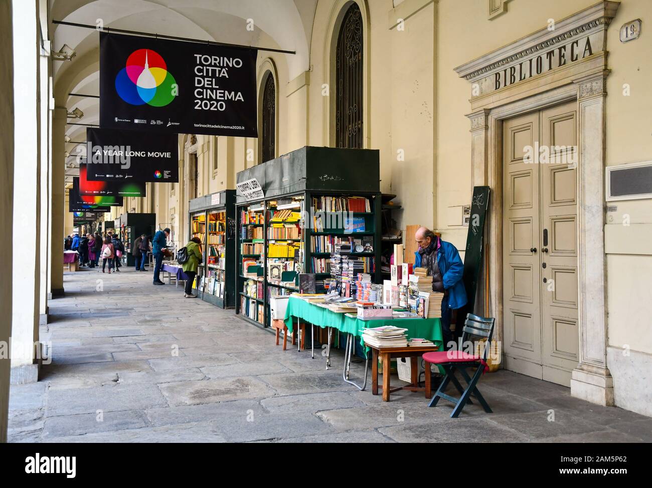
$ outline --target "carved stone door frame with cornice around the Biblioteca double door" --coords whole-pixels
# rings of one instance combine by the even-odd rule
[[[579,363],[572,371],[571,394],[600,405],[613,405],[613,380],[606,364],[606,255],[604,253],[604,139],[606,120],[606,27],[618,3],[602,1],[558,23],[572,38],[592,32],[602,36],[602,49],[572,65],[551,70],[522,83],[514,83],[471,98],[471,185],[492,190],[488,219],[489,311],[498,319],[497,340],[503,340],[503,120],[527,112],[576,100],[578,167],[578,330]],[[481,79],[501,64],[497,59],[524,56],[539,46],[550,46],[546,29],[456,68],[467,80]],[[529,47],[528,47],[529,46]],[[546,47],[546,49],[548,48]],[[486,85],[485,85],[486,86]],[[483,273],[483,276],[486,274]],[[502,349],[502,347],[501,347]]]

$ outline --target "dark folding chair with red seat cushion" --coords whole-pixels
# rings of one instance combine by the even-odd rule
[[[471,401],[471,395],[473,395],[473,397],[479,401],[480,405],[482,405],[482,408],[485,412],[492,413],[489,405],[487,405],[486,401],[484,401],[484,398],[475,385],[480,379],[482,373],[484,373],[484,369],[486,367],[487,354],[490,349],[489,345],[491,344],[492,335],[494,334],[495,323],[496,319],[485,319],[484,317],[473,315],[473,313],[469,313],[466,316],[464,328],[462,329],[462,347],[466,346],[469,343],[469,337],[481,337],[482,339],[486,339],[486,343],[484,343],[483,348],[484,353],[482,353],[482,356],[469,354],[469,352],[458,350],[426,352],[426,354],[423,355],[426,370],[426,391],[428,391],[430,386],[431,364],[441,366],[446,373],[444,379],[439,385],[439,388],[437,388],[437,392],[432,397],[432,400],[430,400],[428,407],[435,407],[439,399],[443,398],[455,404],[455,408],[452,410],[451,417],[456,418],[460,415],[460,412],[462,412],[462,409],[464,409],[464,405],[466,405],[466,403],[473,404]],[[473,378],[469,377],[468,373],[466,372],[467,367],[477,367],[477,371],[475,371]],[[464,380],[466,380],[466,389],[462,388],[462,385],[456,379],[455,370],[460,371],[460,374],[462,377],[464,377]],[[462,394],[460,398],[454,398],[451,395],[444,393],[444,390],[446,390],[446,387],[449,383],[454,384],[458,392]]]

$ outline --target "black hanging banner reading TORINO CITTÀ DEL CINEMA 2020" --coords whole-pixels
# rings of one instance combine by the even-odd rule
[[[249,48],[100,33],[100,126],[258,137]]]

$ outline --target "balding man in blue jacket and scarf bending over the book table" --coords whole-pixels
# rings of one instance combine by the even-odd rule
[[[464,264],[460,253],[450,242],[441,240],[433,231],[419,227],[414,236],[419,251],[415,252],[415,267],[426,268],[432,276],[432,291],[444,294],[441,301],[441,334],[444,347],[451,349],[454,341],[451,333],[452,311],[466,305],[464,288]],[[451,343],[452,342],[452,343]]]

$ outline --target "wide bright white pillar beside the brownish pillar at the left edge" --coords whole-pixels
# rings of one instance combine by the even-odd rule
[[[14,59],[14,252],[11,328],[11,382],[38,380],[40,347],[38,315],[40,294],[40,161],[38,140],[39,47],[35,2],[22,3],[12,12]],[[25,245],[29,243],[31,245]],[[20,250],[20,251],[18,251]]]

